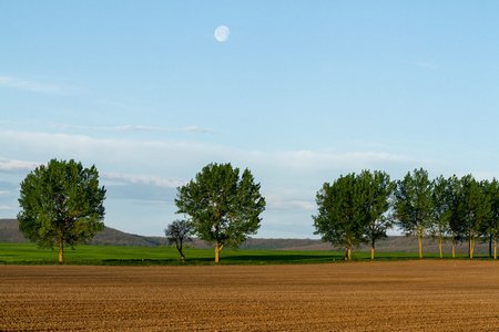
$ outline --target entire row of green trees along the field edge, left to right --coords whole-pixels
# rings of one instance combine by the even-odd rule
[[[246,168],[231,164],[208,164],[186,185],[177,188],[175,205],[184,220],[175,220],[165,236],[175,243],[182,260],[182,246],[196,235],[215,246],[215,261],[224,247],[238,248],[261,226],[265,198],[261,185]],[[42,248],[59,247],[63,261],[64,246],[85,243],[104,228],[105,189],[99,185],[95,166],[83,168],[73,159],[52,159],[40,165],[21,183],[18,214],[24,237]],[[493,178],[476,180],[471,175],[429,179],[428,172],[415,169],[401,180],[393,181],[387,173],[363,170],[324,183],[316,195],[315,234],[324,241],[344,246],[345,259],[352,248],[375,245],[397,227],[416,236],[422,258],[422,237],[431,236],[440,247],[452,241],[469,243],[473,257],[477,240],[489,241],[489,255],[497,258],[499,184]]]

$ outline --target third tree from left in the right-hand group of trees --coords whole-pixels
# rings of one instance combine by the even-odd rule
[[[395,217],[406,236],[415,235],[422,258],[422,237],[428,232],[432,214],[431,181],[428,172],[415,169],[397,183],[395,190]]]

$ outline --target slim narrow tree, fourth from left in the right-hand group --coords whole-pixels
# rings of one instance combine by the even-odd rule
[[[432,217],[429,226],[429,234],[438,241],[440,258],[442,258],[441,245],[446,240],[450,231],[449,220],[452,215],[451,206],[451,188],[449,181],[439,176],[434,180],[431,191]]]

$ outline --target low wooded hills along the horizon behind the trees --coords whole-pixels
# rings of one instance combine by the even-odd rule
[[[29,243],[19,231],[19,221],[17,219],[0,219],[0,242]],[[105,227],[89,242],[96,246],[124,246],[124,247],[159,247],[167,245],[164,237],[144,237],[126,234],[118,229]],[[206,246],[200,239],[194,239],[192,243],[187,243],[195,248],[212,248]],[[344,248],[333,247],[322,240],[315,239],[248,239],[241,249],[262,249],[262,250],[324,250],[324,251],[343,251]],[[476,253],[487,253],[488,245],[477,241],[475,248]],[[370,247],[361,246],[354,251],[370,251]],[[376,243],[378,252],[418,252],[418,242],[416,238],[410,237],[388,237],[387,239]],[[424,239],[424,252],[438,252],[438,243],[431,239]],[[451,252],[449,242],[444,245],[444,252]],[[467,253],[467,243],[457,246],[458,253]]]

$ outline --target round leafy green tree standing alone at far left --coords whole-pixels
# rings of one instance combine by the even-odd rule
[[[64,245],[74,248],[104,229],[104,199],[94,165],[52,159],[21,183],[19,230],[40,248],[58,245],[63,262]]]

